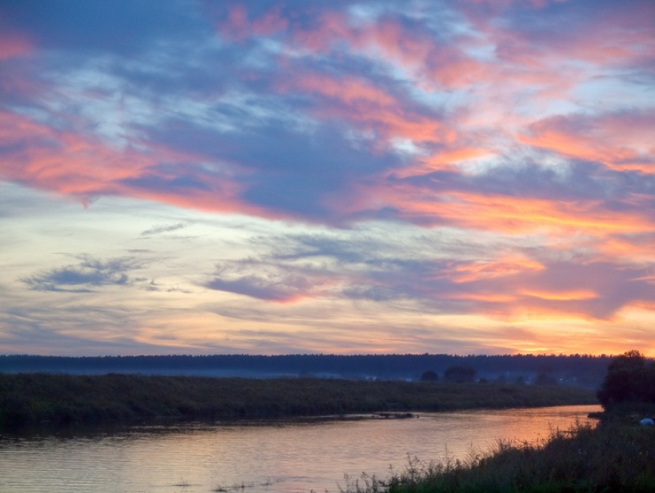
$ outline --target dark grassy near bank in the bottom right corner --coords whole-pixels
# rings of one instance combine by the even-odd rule
[[[385,480],[347,478],[347,493],[611,493],[655,491],[655,428],[633,421],[577,425],[543,443],[499,442],[491,455],[424,463]]]

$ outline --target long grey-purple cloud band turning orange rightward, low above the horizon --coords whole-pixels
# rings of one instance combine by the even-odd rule
[[[411,240],[414,250],[390,239],[285,236],[269,242],[272,250],[260,258],[217,266],[205,286],[274,303],[413,299],[425,312],[488,313],[510,320],[524,312],[609,319],[655,297],[651,266],[644,263],[628,266],[589,253],[553,256],[530,248],[506,255],[478,251],[463,260],[447,244]]]

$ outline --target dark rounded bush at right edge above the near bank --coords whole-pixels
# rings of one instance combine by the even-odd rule
[[[613,358],[598,400],[608,411],[626,403],[655,403],[655,362],[637,350]]]

